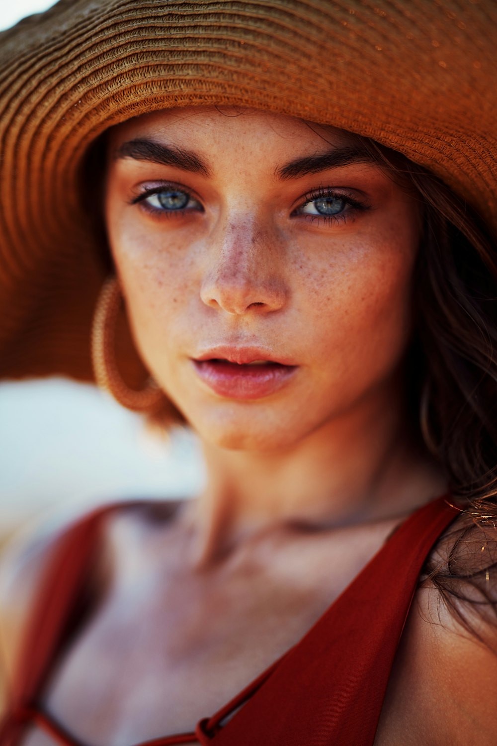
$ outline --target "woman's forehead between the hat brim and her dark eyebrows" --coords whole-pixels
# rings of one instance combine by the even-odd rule
[[[110,132],[113,150],[123,142],[153,139],[209,156],[209,151],[242,155],[248,151],[309,154],[353,145],[358,138],[338,128],[284,114],[236,107],[186,107],[129,119]]]

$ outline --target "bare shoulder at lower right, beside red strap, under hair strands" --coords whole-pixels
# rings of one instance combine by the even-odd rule
[[[375,745],[497,743],[497,530],[442,537],[402,635]]]

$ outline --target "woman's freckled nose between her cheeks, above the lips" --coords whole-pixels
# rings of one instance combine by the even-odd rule
[[[231,222],[212,236],[200,289],[203,303],[234,315],[268,313],[280,310],[287,296],[282,246],[276,236],[253,219]]]

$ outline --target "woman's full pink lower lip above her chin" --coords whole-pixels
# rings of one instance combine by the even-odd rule
[[[231,399],[259,399],[279,391],[297,371],[297,366],[268,363],[239,366],[237,363],[194,360],[204,383],[220,396]]]

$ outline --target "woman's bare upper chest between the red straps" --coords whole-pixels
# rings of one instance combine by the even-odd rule
[[[174,552],[159,563],[128,552],[54,672],[45,709],[90,744],[194,730],[295,645],[379,545],[371,536],[352,562],[314,542],[310,554],[278,551],[268,565],[263,551],[207,574],[184,571]],[[25,746],[46,743],[33,732]]]

